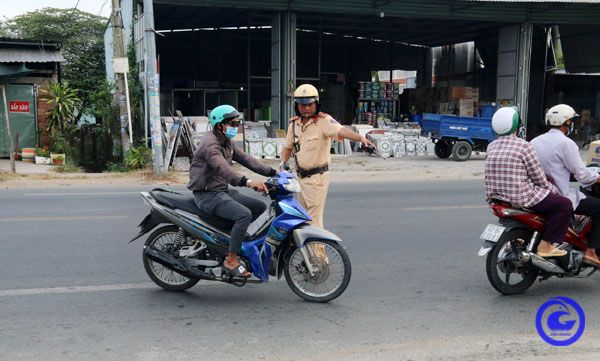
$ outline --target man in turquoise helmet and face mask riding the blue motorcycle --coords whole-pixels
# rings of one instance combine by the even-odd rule
[[[235,277],[249,277],[250,272],[240,263],[238,253],[248,226],[264,212],[266,206],[228,185],[248,187],[263,193],[267,192],[267,187],[264,182],[250,180],[235,171],[231,166],[232,160],[263,176],[272,177],[277,172],[244,153],[231,141],[237,135],[239,117],[240,113],[231,105],[220,105],[210,112],[213,130],[200,140],[187,187],[194,192],[200,210],[234,222],[223,271]]]

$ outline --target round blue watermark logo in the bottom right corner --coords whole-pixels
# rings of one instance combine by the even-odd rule
[[[568,297],[553,297],[540,306],[535,327],[542,340],[553,346],[569,346],[585,330],[585,314],[577,302]]]

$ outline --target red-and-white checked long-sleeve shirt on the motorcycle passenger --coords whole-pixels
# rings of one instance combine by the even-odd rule
[[[487,148],[485,193],[518,207],[531,207],[556,188],[546,179],[531,144],[515,135],[499,137]]]

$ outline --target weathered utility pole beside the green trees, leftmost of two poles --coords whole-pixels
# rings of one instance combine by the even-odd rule
[[[112,0],[112,23],[113,23],[113,61],[119,58],[125,58],[125,41],[123,39],[123,16],[121,12],[120,0]],[[131,121],[128,116],[129,104],[126,94],[128,93],[125,85],[125,74],[117,73],[117,94],[116,100],[119,104],[119,133],[121,134],[121,144],[123,154],[131,147],[130,135],[128,134],[128,124]]]

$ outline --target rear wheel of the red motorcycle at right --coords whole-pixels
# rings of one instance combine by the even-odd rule
[[[519,251],[525,250],[531,238],[531,231],[526,229],[512,229],[504,233],[492,251],[488,253],[486,260],[486,273],[492,286],[504,295],[517,295],[525,292],[538,276],[537,269],[529,265],[526,269],[516,272],[515,263],[512,260]],[[511,260],[505,260],[511,257]],[[516,283],[510,283],[510,277],[520,277]]]

